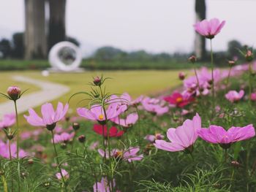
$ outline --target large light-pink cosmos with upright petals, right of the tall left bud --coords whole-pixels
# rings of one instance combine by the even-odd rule
[[[42,118],[40,118],[33,109],[29,109],[29,116],[24,115],[24,118],[31,126],[46,126],[49,131],[52,131],[56,127],[56,123],[66,115],[69,105],[59,102],[56,111],[53,109],[53,105],[46,103],[41,107]]]

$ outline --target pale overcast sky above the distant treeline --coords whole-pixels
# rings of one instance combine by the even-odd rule
[[[24,30],[24,0],[1,1],[0,38]],[[207,18],[226,20],[214,39],[225,50],[230,39],[256,45],[256,1],[206,0]],[[159,53],[191,51],[194,0],[67,0],[67,34],[83,49],[112,45]]]

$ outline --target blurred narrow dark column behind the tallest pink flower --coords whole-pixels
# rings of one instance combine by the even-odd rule
[[[196,22],[206,19],[206,1],[195,0],[195,20]],[[206,38],[200,34],[195,34],[195,55],[204,60],[206,58]]]

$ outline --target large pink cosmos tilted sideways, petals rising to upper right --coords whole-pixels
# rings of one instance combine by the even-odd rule
[[[192,147],[197,139],[197,130],[201,128],[201,118],[198,114],[192,120],[185,120],[182,126],[169,128],[167,138],[171,142],[156,140],[154,146],[167,151],[181,151],[192,153]]]

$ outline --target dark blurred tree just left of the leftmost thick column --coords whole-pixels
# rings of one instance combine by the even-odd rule
[[[12,57],[13,58],[23,58],[24,57],[24,34],[23,33],[15,33],[12,35]]]

